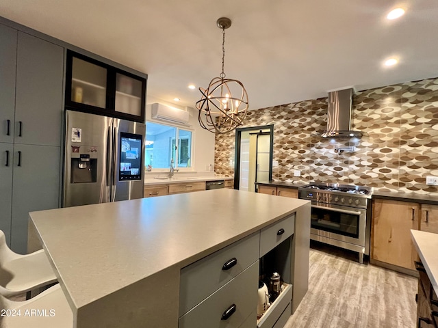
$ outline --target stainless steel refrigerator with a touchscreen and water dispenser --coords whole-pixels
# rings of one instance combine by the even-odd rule
[[[143,197],[145,124],[66,111],[64,207]]]

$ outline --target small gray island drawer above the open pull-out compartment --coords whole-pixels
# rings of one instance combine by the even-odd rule
[[[260,257],[294,234],[295,214],[272,223],[260,232]]]

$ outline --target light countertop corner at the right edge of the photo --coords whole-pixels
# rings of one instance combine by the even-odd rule
[[[411,230],[411,235],[430,283],[435,290],[435,294],[438,295],[438,234]]]

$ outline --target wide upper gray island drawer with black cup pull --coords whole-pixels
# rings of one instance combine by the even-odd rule
[[[259,242],[256,232],[181,269],[179,316],[257,261]]]

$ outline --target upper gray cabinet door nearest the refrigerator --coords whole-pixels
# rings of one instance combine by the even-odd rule
[[[21,31],[17,49],[14,142],[60,146],[64,49]]]

